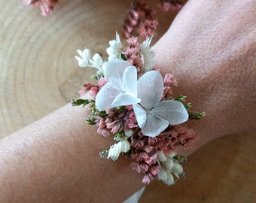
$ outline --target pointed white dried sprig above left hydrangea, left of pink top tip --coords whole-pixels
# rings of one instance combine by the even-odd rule
[[[120,42],[120,37],[116,32],[116,40],[109,41],[108,49],[106,50],[108,53],[108,61],[111,59],[119,59],[120,51],[123,48],[123,45]]]

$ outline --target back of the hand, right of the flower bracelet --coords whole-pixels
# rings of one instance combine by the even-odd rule
[[[157,65],[178,79],[177,94],[206,111],[190,123],[198,147],[223,135],[256,129],[256,2],[188,1],[154,45]]]

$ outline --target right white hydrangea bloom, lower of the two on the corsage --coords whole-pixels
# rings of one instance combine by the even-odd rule
[[[133,111],[144,135],[152,138],[159,135],[170,125],[177,125],[188,119],[181,102],[162,101],[163,78],[158,71],[148,71],[138,80],[140,104],[133,105]]]

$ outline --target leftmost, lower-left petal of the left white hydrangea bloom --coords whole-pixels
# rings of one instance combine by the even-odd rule
[[[112,102],[114,98],[122,92],[118,86],[114,83],[106,83],[105,86],[102,86],[102,89],[99,90],[96,95],[96,108],[99,111],[106,111],[109,108],[112,108]]]

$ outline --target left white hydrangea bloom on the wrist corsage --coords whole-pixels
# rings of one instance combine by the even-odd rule
[[[112,59],[105,64],[104,73],[107,83],[96,95],[96,108],[99,111],[141,101],[137,98],[137,70],[129,62]]]

